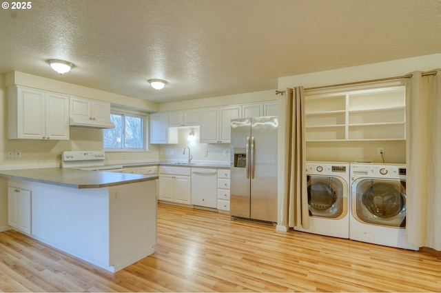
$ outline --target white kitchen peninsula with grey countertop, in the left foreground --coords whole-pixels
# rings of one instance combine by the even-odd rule
[[[0,171],[8,223],[116,272],[154,252],[157,176],[68,168]]]

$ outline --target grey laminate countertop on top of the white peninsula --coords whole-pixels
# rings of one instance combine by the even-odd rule
[[[32,181],[77,189],[105,188],[158,179],[156,175],[86,171],[70,168],[0,170],[0,176],[8,179]]]

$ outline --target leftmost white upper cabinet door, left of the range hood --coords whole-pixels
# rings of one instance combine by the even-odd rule
[[[45,137],[45,92],[18,88],[17,139]]]

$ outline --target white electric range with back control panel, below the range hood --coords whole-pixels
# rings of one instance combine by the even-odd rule
[[[101,150],[69,150],[61,154],[61,168],[90,171],[122,172],[122,165],[105,165],[105,152]]]

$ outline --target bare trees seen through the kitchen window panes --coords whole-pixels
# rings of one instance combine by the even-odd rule
[[[143,150],[144,119],[133,114],[110,114],[110,121],[115,125],[113,129],[103,132],[103,144],[106,149]]]

